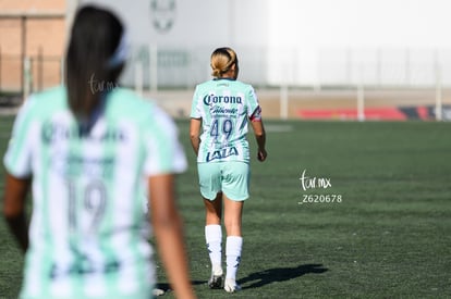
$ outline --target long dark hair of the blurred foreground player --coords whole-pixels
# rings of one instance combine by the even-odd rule
[[[92,117],[100,103],[100,90],[92,88],[97,82],[117,85],[123,63],[111,66],[109,61],[121,41],[124,27],[111,12],[87,5],[75,15],[65,57],[65,82],[69,107],[80,121]]]

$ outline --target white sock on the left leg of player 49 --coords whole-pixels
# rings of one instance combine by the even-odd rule
[[[205,226],[205,240],[211,262],[211,271],[216,275],[222,275],[222,229],[219,224]]]

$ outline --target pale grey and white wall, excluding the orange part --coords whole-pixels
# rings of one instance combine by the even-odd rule
[[[135,50],[190,53],[188,66],[159,70],[160,80],[207,79],[210,52],[232,46],[241,77],[260,84],[430,85],[437,63],[451,83],[450,0],[175,0],[167,33],[153,25],[151,1],[170,0],[80,0],[115,10]]]

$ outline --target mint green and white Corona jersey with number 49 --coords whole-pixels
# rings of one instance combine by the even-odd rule
[[[249,117],[259,109],[254,88],[240,80],[212,79],[196,86],[191,117],[202,119],[197,162],[249,162]]]

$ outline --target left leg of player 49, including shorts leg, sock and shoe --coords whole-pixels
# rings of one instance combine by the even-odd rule
[[[197,169],[206,211],[205,240],[211,262],[211,277],[208,285],[210,288],[221,288],[223,275],[221,172],[217,163],[199,163]]]

